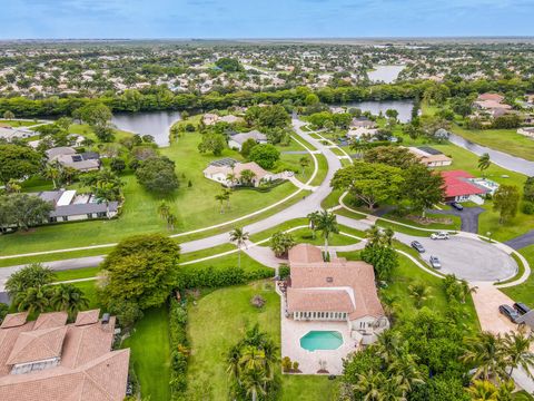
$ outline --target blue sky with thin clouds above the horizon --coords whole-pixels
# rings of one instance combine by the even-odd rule
[[[534,0],[0,0],[0,39],[534,36]]]

